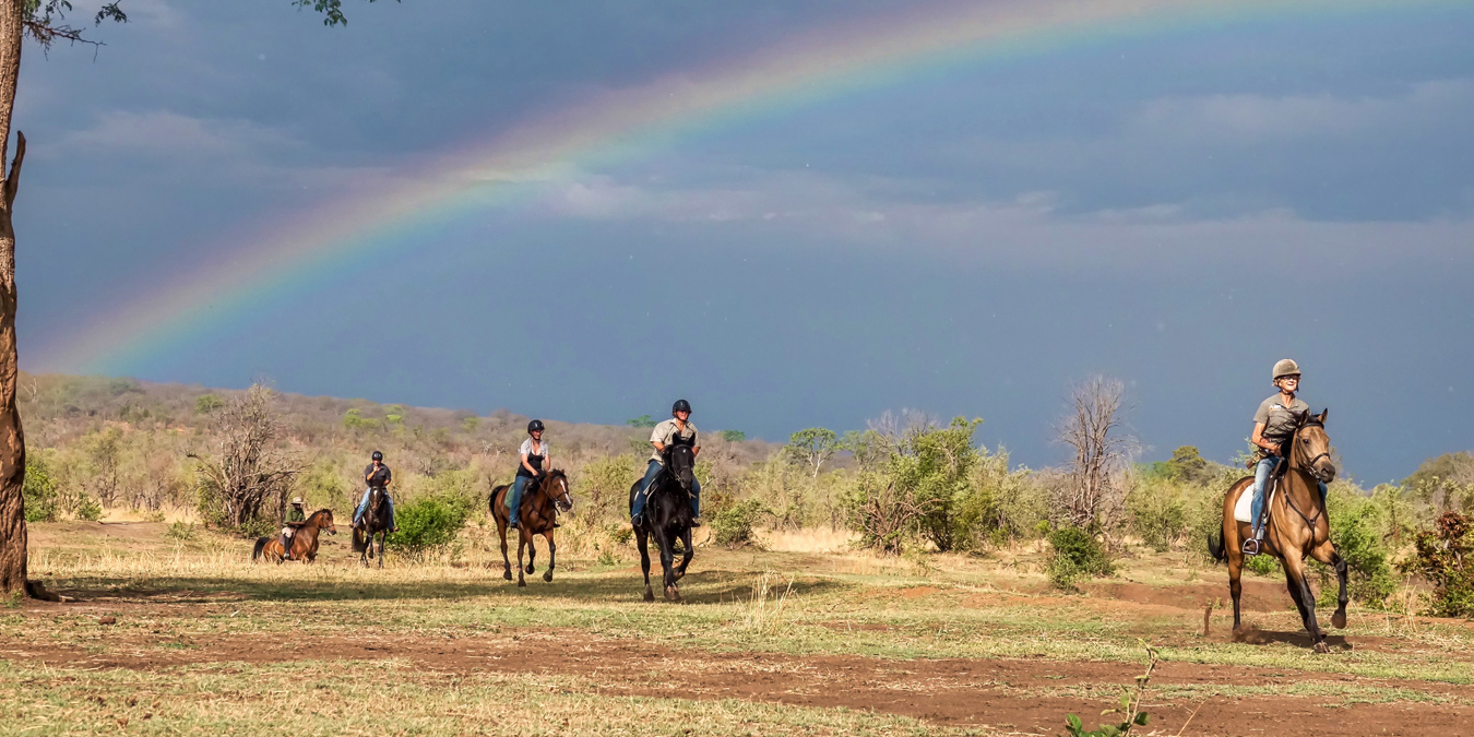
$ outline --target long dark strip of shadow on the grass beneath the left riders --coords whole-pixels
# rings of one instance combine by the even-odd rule
[[[652,585],[659,597],[660,579],[652,572]],[[687,604],[721,604],[752,598],[755,575],[749,572],[693,572],[680,584]],[[488,572],[483,581],[254,581],[198,576],[147,579],[128,578],[59,578],[49,584],[56,591],[83,601],[137,601],[158,604],[209,604],[223,601],[357,601],[357,600],[451,600],[492,597],[497,603],[519,600],[572,598],[590,603],[631,603],[644,595],[640,573],[600,573],[554,578],[544,582],[541,575],[528,579],[526,588],[504,581],[500,572]],[[789,587],[778,584],[780,594]],[[794,578],[792,594],[814,594],[849,588],[849,584],[803,576]],[[665,603],[657,598],[657,603]],[[668,604],[671,606],[671,604]]]

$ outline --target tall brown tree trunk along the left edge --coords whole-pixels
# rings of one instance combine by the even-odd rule
[[[24,0],[0,0],[0,174],[10,147],[10,113],[21,74]],[[25,159],[25,136],[18,137],[15,164],[0,186],[0,593],[25,590],[25,433],[15,392],[19,360],[15,346],[15,192]]]

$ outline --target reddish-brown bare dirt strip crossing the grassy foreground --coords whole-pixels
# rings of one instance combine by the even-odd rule
[[[572,631],[488,632],[466,638],[411,638],[363,634],[298,638],[283,647],[276,637],[199,637],[190,649],[162,649],[165,638],[105,637],[106,652],[57,649],[0,640],[0,657],[69,668],[159,669],[189,663],[268,663],[304,657],[330,660],[404,659],[447,674],[545,672],[593,680],[603,694],[685,699],[746,699],[818,708],[849,708],[915,716],[943,725],[989,725],[1005,733],[1058,734],[1064,715],[1086,722],[1113,706],[1119,684],[1139,666],[1055,660],[884,660],[862,656],[787,656],[672,650],[637,640],[591,640]],[[1316,681],[1362,687],[1399,687],[1474,702],[1474,687],[1422,681],[1377,681],[1197,663],[1162,663],[1153,685],[1287,685]],[[1051,693],[1052,691],[1052,693]],[[1073,693],[1072,693],[1073,691]],[[1080,693],[1083,691],[1083,693]],[[1042,693],[1042,694],[1041,694]],[[1148,696],[1153,727],[1176,734],[1194,709],[1185,734],[1453,734],[1474,724],[1474,708],[1433,703],[1356,703],[1340,699],[1212,697],[1206,703]],[[1094,724],[1091,722],[1094,727]]]

